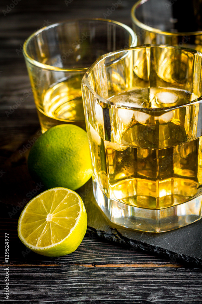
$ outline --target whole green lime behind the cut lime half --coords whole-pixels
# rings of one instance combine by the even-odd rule
[[[87,133],[72,124],[52,127],[32,146],[28,170],[48,189],[80,188],[92,173]]]

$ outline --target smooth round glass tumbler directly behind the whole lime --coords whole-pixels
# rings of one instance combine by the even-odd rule
[[[128,26],[107,19],[78,19],[46,26],[24,43],[42,133],[61,123],[85,130],[81,79],[101,55],[135,46]]]

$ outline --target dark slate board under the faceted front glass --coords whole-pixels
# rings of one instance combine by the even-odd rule
[[[79,189],[78,193],[86,207],[89,236],[101,237],[130,247],[133,251],[140,249],[154,254],[163,254],[173,262],[181,260],[202,266],[202,219],[188,226],[163,233],[131,230],[111,223],[104,215],[94,199],[91,179]]]

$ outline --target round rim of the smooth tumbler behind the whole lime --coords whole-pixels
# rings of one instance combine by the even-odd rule
[[[48,25],[48,26],[44,26],[41,29],[38,29],[37,31],[35,31],[34,33],[32,33],[25,40],[25,42],[23,44],[23,55],[25,57],[25,60],[27,60],[29,63],[31,63],[31,64],[33,64],[33,65],[35,65],[37,67],[43,68],[45,70],[58,71],[58,72],[61,72],[61,71],[63,71],[63,72],[64,71],[65,72],[71,72],[71,71],[74,71],[74,72],[85,72],[85,71],[88,71],[90,65],[88,67],[73,67],[73,68],[54,67],[52,65],[43,64],[43,63],[41,63],[41,62],[39,62],[39,61],[31,58],[28,55],[28,53],[27,53],[28,43],[35,36],[37,36],[39,33],[43,32],[44,30],[50,29],[52,27],[60,26],[60,25],[65,24],[65,23],[72,23],[72,22],[78,22],[78,21],[103,21],[103,22],[113,23],[113,24],[115,24],[117,26],[122,27],[123,29],[125,29],[131,35],[131,38],[132,38],[131,47],[134,46],[135,43],[137,45],[137,35],[136,35],[136,33],[134,33],[134,31],[129,26],[127,26],[127,25],[125,25],[125,24],[123,24],[121,22],[110,20],[110,19],[104,19],[104,18],[78,18],[78,19],[69,19],[69,20],[53,23],[53,24]]]

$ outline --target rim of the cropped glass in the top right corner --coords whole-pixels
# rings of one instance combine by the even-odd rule
[[[140,6],[143,5],[145,2],[147,2],[148,0],[139,0],[137,1],[131,9],[131,19],[132,22],[134,22],[135,25],[139,26],[140,28],[149,31],[149,32],[153,32],[155,34],[161,34],[161,35],[165,35],[165,36],[195,36],[195,35],[201,35],[202,31],[195,31],[195,32],[167,32],[167,31],[162,31],[161,29],[157,29],[155,27],[151,27],[148,26],[144,23],[142,23],[141,21],[139,21],[136,16],[135,16],[135,10]]]

